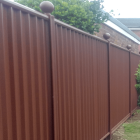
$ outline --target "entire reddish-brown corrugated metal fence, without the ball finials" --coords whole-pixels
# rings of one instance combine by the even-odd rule
[[[0,1],[0,140],[103,140],[137,107],[139,60]]]

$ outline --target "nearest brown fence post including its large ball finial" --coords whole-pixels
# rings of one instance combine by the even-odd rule
[[[43,1],[40,4],[41,10],[49,17],[50,30],[50,51],[51,51],[51,77],[52,77],[52,100],[53,100],[53,140],[59,139],[59,122],[58,118],[58,87],[57,87],[57,52],[56,52],[56,28],[54,16],[50,13],[54,10],[54,5],[49,1]]]

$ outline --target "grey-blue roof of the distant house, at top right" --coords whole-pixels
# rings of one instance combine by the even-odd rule
[[[117,18],[128,28],[140,28],[140,18]]]

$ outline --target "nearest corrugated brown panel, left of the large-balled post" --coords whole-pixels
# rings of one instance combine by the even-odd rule
[[[0,3],[0,140],[52,140],[48,21]]]

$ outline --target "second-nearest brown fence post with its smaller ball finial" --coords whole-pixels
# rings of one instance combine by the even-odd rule
[[[112,132],[111,132],[111,108],[110,108],[110,41],[108,40],[110,38],[110,34],[109,33],[105,33],[103,35],[104,39],[106,39],[108,41],[108,131],[109,131],[109,136],[106,138],[106,140],[110,140],[111,139],[111,136],[112,136]]]

